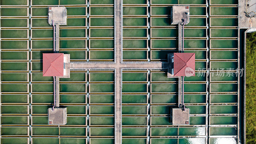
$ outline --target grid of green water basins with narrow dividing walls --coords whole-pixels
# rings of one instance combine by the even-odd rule
[[[124,0],[123,4],[127,5],[123,6],[123,60],[166,61],[167,53],[177,52],[178,29],[177,25],[171,25],[171,5],[189,4],[193,5],[190,6],[193,17],[185,26],[184,52],[196,53],[196,70],[209,67],[213,70],[236,69],[238,62],[224,60],[238,59],[238,51],[234,50],[238,48],[238,30],[216,27],[237,27],[238,19],[206,18],[206,13],[210,16],[236,16],[238,1],[215,0],[210,3],[219,5],[207,9],[204,0],[152,0],[151,5],[146,0]],[[20,8],[3,6],[0,10],[1,17],[11,17],[0,20],[3,27],[1,38],[4,39],[1,41],[1,143],[29,143],[30,136],[31,143],[115,143],[113,71],[87,73],[86,70],[72,70],[70,78],[60,78],[60,107],[67,107],[68,113],[65,127],[47,125],[47,108],[51,108],[53,103],[53,78],[42,76],[42,53],[52,52],[53,48],[47,6],[68,5],[67,25],[60,26],[61,53],[70,54],[71,61],[113,62],[114,0],[32,0],[32,8],[26,0],[1,0],[0,4],[23,5]],[[225,7],[223,4],[235,5]],[[209,34],[206,30],[208,19]],[[212,39],[206,40],[209,35]],[[217,40],[216,37],[234,40]],[[218,48],[221,50],[216,50]],[[210,63],[207,64],[209,58]],[[170,127],[171,108],[176,108],[178,103],[178,78],[167,78],[166,71],[123,72],[122,143],[146,144],[148,140],[154,144],[205,143],[206,135],[209,143],[227,140],[237,143],[237,126],[220,126],[237,125],[238,122],[237,116],[228,116],[238,112],[238,95],[228,94],[238,91],[235,73],[219,76],[210,72],[210,79],[206,75],[201,76],[200,72],[196,75],[185,77],[184,84],[184,103],[190,108],[190,126]],[[210,83],[209,91],[207,82]],[[207,96],[207,92],[211,93]],[[209,113],[207,105],[210,105]],[[210,121],[210,128],[206,119]],[[31,125],[31,134],[28,125]],[[206,128],[209,128],[207,132]],[[226,136],[235,138],[224,138]]]

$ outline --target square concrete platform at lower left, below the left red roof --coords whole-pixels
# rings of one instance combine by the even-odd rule
[[[48,108],[48,124],[64,125],[67,124],[67,108]]]

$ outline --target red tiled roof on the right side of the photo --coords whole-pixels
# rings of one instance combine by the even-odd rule
[[[195,76],[195,53],[174,53],[174,76]]]

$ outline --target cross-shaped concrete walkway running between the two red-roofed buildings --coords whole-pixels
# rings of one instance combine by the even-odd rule
[[[115,70],[115,143],[122,143],[122,69],[162,69],[167,63],[122,62],[122,0],[115,1],[115,62],[66,63],[70,70],[113,69]]]

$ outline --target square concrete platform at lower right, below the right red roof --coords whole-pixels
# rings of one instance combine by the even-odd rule
[[[190,119],[190,109],[185,108],[184,111],[182,111],[181,108],[172,108],[172,125],[189,125]]]

